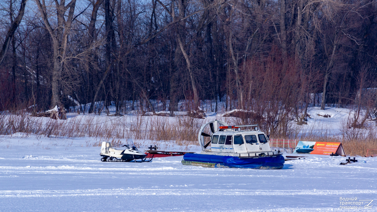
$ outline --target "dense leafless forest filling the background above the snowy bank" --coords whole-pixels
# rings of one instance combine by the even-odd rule
[[[375,0],[2,0],[0,14],[0,111],[186,100],[200,117],[212,99],[269,131],[308,106],[366,111],[353,127],[377,115]]]

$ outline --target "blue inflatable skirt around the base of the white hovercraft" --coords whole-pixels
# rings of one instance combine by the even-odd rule
[[[182,164],[208,168],[281,169],[284,166],[284,157],[277,155],[239,158],[233,156],[186,153],[183,156]]]

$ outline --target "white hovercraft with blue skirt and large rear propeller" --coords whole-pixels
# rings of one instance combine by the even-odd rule
[[[211,134],[204,132],[208,125]],[[228,126],[220,120],[202,125],[198,134],[201,153],[185,154],[182,164],[208,168],[283,168],[283,153],[271,151],[268,136],[258,130],[257,126]],[[254,127],[254,130],[241,130],[241,127]],[[204,137],[210,137],[210,141],[205,143]]]

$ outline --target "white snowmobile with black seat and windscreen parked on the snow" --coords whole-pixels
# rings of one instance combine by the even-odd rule
[[[126,149],[116,149],[112,147],[110,142],[102,142],[101,153],[102,162],[150,162],[152,158],[146,161],[146,154],[139,151],[132,139],[128,139],[127,143],[122,147]]]

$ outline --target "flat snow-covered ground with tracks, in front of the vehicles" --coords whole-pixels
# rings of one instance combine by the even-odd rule
[[[309,156],[279,170],[202,168],[182,165],[182,156],[101,162],[100,148],[87,146],[93,142],[0,136],[0,211],[365,210],[340,209],[340,197],[374,200],[368,211],[377,211],[377,158],[339,165],[345,157]]]

